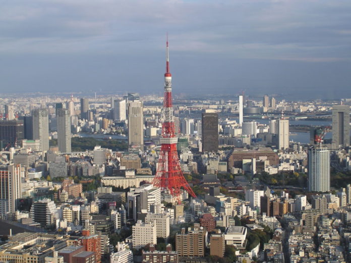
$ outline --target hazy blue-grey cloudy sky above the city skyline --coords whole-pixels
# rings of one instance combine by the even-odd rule
[[[351,97],[351,1],[3,0],[0,96]]]

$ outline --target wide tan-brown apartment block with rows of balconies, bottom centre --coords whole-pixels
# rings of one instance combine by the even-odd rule
[[[206,230],[200,224],[194,224],[193,230],[182,228],[180,234],[175,235],[175,250],[179,256],[204,256]]]

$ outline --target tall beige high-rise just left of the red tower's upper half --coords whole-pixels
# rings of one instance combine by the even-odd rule
[[[128,144],[129,146],[144,145],[144,114],[143,102],[135,100],[128,105]]]

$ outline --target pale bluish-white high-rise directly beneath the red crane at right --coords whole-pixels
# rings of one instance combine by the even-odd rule
[[[330,153],[328,148],[313,146],[308,150],[309,191],[329,192]]]

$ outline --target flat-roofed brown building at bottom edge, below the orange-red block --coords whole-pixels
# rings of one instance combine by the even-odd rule
[[[63,256],[66,263],[96,263],[95,253],[85,251],[84,246],[68,246],[58,255]]]

